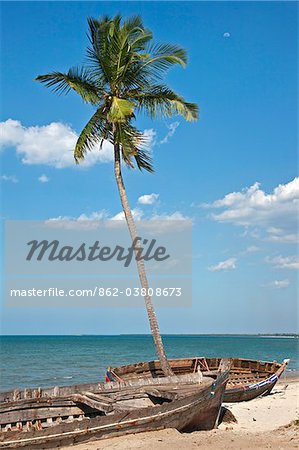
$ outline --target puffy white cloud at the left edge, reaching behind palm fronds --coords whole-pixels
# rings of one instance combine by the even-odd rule
[[[154,130],[145,130],[147,148],[151,148]],[[18,120],[0,123],[0,148],[15,147],[24,164],[44,164],[62,169],[74,167],[73,150],[78,134],[67,124],[53,122],[44,126],[25,127]],[[82,167],[113,161],[113,147],[104,141],[102,149],[96,145],[87,152]]]

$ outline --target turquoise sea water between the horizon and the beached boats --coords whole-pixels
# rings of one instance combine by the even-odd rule
[[[243,357],[282,361],[298,370],[298,338],[164,336],[167,356]],[[105,368],[155,358],[151,336],[2,336],[0,389],[96,382]]]

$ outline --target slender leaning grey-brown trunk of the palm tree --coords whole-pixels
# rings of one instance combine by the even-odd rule
[[[135,222],[133,219],[133,215],[131,212],[131,208],[130,208],[130,205],[128,202],[125,185],[124,185],[123,178],[122,178],[119,144],[114,144],[114,173],[115,173],[116,183],[117,183],[117,187],[118,187],[118,191],[119,191],[119,195],[120,195],[121,204],[123,207],[123,211],[125,214],[125,218],[127,221],[131,239],[133,242],[135,240],[135,238],[138,237],[138,235],[137,235],[137,230],[136,230]],[[139,246],[139,242],[135,245],[135,247],[138,248],[138,246]],[[138,270],[138,275],[139,275],[141,286],[142,286],[142,288],[145,289],[145,292],[148,292],[149,285],[148,285],[148,280],[147,280],[147,276],[146,276],[146,272],[145,272],[144,261],[138,259],[138,260],[136,260],[136,263],[137,263],[137,270]],[[158,355],[158,358],[159,358],[160,364],[161,364],[161,369],[163,370],[163,373],[165,376],[172,375],[172,371],[169,367],[169,364],[168,364],[168,361],[166,358],[166,354],[165,354],[162,338],[160,335],[159,326],[158,326],[154,306],[152,303],[152,299],[149,295],[145,295],[144,300],[145,300],[145,306],[146,306],[146,310],[147,310],[147,315],[148,315],[148,319],[149,319],[149,323],[150,323],[152,336],[153,336],[155,347],[156,347],[156,352],[157,352],[157,355]]]

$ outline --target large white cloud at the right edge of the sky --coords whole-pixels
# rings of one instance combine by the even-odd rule
[[[298,204],[299,177],[278,185],[271,194],[266,194],[259,183],[254,183],[202,206],[222,210],[211,215],[217,222],[263,229],[267,239],[272,241],[295,242]]]

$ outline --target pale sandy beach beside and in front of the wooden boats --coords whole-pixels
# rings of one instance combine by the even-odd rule
[[[266,397],[224,404],[237,422],[223,422],[215,430],[181,434],[165,429],[61,447],[61,450],[298,449],[298,394],[298,378],[282,379]]]

